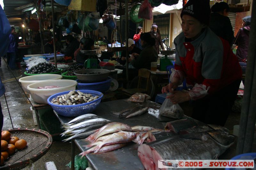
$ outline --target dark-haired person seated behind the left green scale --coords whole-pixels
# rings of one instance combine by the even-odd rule
[[[91,38],[81,38],[81,50],[94,50],[94,41]],[[76,62],[79,64],[84,64],[84,62],[90,58],[97,58],[97,55],[85,55],[81,53],[81,50],[76,55]]]

